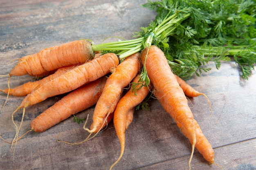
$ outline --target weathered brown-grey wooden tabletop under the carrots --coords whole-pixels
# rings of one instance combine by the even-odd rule
[[[140,6],[146,0],[1,0],[0,1],[0,74],[8,74],[16,64],[13,59],[76,39],[92,39],[95,44],[109,36],[131,39],[132,33],[147,26],[155,13]],[[187,81],[211,101],[213,116],[203,96],[189,98],[189,105],[204,135],[215,151],[215,161],[225,170],[256,169],[256,74],[249,81],[240,79],[234,62],[222,63],[200,77]],[[11,87],[31,80],[30,76],[11,78]],[[0,88],[8,78],[0,77]],[[49,98],[26,109],[20,134],[30,129],[31,120],[60,98]],[[0,94],[0,106],[6,94]],[[15,127],[11,113],[23,97],[9,96],[0,114],[0,135],[11,141]],[[191,144],[157,100],[150,110],[135,112],[126,131],[125,153],[115,166],[130,169],[188,169]],[[79,113],[84,118],[93,107]],[[20,123],[22,111],[14,120]],[[43,133],[30,132],[17,144],[12,161],[11,145],[0,140],[0,169],[99,169],[106,170],[119,156],[119,140],[112,122],[97,137],[80,145],[57,142],[57,135],[67,142],[80,142],[88,135],[83,124],[69,118]],[[209,165],[196,150],[192,169],[218,170]]]

